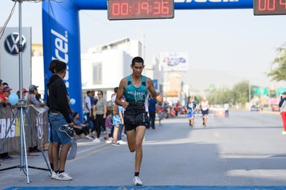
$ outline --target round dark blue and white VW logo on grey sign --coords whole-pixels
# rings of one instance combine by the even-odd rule
[[[4,41],[5,50],[10,53],[11,55],[19,54],[19,43],[20,37],[18,32],[13,32],[12,34],[8,35]],[[23,51],[26,49],[26,38],[22,35],[22,46]]]

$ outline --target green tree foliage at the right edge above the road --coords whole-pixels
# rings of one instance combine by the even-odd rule
[[[267,74],[274,81],[286,80],[286,47],[283,44],[282,47],[277,48],[278,57],[271,63],[271,71]],[[275,68],[273,68],[275,67]]]

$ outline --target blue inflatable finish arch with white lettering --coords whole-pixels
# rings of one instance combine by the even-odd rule
[[[252,8],[253,2],[252,0],[175,0],[174,6],[175,9]],[[68,69],[64,80],[70,98],[76,100],[75,105],[71,107],[79,113],[80,118],[82,118],[82,76],[79,10],[106,9],[106,0],[65,0],[60,3],[48,0],[42,3],[45,84],[51,75],[48,70],[50,61],[59,59],[66,62]]]

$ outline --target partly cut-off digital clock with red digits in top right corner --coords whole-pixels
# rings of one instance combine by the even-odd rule
[[[254,0],[254,15],[286,15],[286,0]]]

